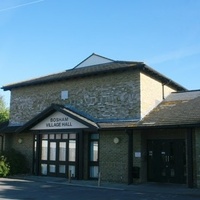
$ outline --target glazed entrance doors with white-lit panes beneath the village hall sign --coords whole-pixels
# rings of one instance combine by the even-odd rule
[[[76,134],[41,135],[40,174],[76,177]]]

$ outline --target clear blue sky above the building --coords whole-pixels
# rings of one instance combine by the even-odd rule
[[[70,69],[92,53],[143,61],[200,89],[200,1],[0,1],[0,86]],[[9,104],[9,92],[0,95]]]

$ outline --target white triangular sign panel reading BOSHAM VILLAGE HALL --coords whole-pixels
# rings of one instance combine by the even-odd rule
[[[88,128],[86,125],[74,120],[73,118],[61,113],[55,112],[43,121],[39,122],[31,130],[51,130],[51,129],[81,129]]]

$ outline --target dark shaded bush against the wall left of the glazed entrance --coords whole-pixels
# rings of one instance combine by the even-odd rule
[[[9,175],[25,174],[28,172],[26,157],[20,152],[11,149],[3,152],[2,155],[6,158],[6,161],[8,161],[10,165]]]

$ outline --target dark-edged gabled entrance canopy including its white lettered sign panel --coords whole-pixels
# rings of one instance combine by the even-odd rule
[[[17,132],[25,130],[61,130],[91,129],[97,130],[98,125],[87,117],[78,114],[69,107],[52,104],[39,115],[28,121]]]

